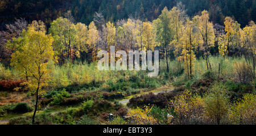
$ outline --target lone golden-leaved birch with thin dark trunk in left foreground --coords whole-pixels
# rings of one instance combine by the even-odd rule
[[[28,74],[31,75],[29,86],[35,91],[36,101],[35,110],[32,116],[32,124],[35,123],[35,114],[38,108],[39,96],[43,94],[42,87],[46,86],[49,78],[47,65],[53,59],[52,42],[53,37],[46,35],[46,29],[43,22],[33,21],[28,25],[26,39],[29,44],[24,44],[12,54],[12,65],[26,66]],[[16,59],[19,58],[18,60]]]

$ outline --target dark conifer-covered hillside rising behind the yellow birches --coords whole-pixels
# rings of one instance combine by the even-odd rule
[[[179,2],[185,5],[189,16],[208,10],[213,23],[222,24],[224,16],[233,16],[242,27],[250,20],[256,20],[255,0],[3,0],[0,3],[0,29],[4,28],[5,23],[13,22],[15,18],[25,18],[28,22],[43,20],[49,26],[52,20],[67,10],[72,10],[77,22],[87,25],[92,22],[95,12],[102,12],[107,20],[114,22],[128,18],[129,15],[152,21],[158,18],[165,6],[171,9]]]

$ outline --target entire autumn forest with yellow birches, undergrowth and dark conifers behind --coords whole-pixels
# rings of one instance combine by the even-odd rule
[[[255,5],[1,1],[0,124],[255,125]],[[98,70],[110,46],[159,50],[158,76]]]

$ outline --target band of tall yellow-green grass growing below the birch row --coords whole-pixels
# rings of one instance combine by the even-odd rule
[[[237,62],[245,62],[245,58],[223,58],[223,57],[209,57],[212,70],[210,73],[213,76],[220,76],[220,78],[234,78],[234,65]],[[218,75],[218,67],[220,63],[220,75]],[[115,83],[121,82],[144,82],[143,86],[148,86],[148,84],[155,84],[154,86],[159,86],[159,82],[164,80],[173,79],[176,84],[183,84],[188,81],[187,73],[184,72],[183,62],[177,60],[169,60],[169,70],[166,70],[166,61],[160,61],[159,76],[156,78],[148,78],[148,71],[100,71],[97,69],[97,63],[82,63],[77,62],[67,62],[64,65],[55,65],[53,62],[49,64],[52,71],[50,73],[51,79],[48,80],[48,86],[51,90],[54,88],[61,88],[67,86],[90,84],[95,86],[95,83],[99,83],[101,87],[108,88]],[[196,59],[192,69],[192,79],[189,82],[196,82],[199,79],[204,78],[205,73],[209,72],[207,70],[206,61],[203,58]],[[133,79],[137,77],[138,79]],[[20,79],[22,74],[17,70],[4,67],[0,64],[0,79]],[[24,78],[24,77],[23,77]],[[134,86],[133,88],[141,88],[139,83],[137,84],[126,84],[123,86]],[[118,87],[122,88],[122,87]]]

